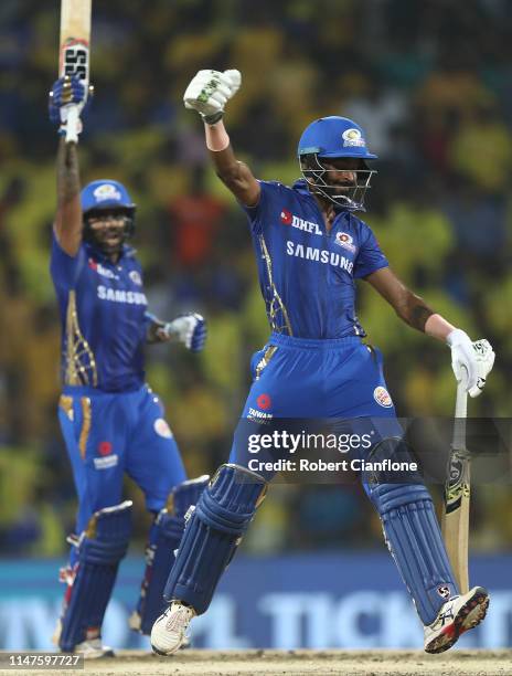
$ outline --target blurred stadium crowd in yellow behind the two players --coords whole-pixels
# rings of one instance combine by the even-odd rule
[[[45,589],[52,603],[61,592],[54,559],[65,557],[75,510],[56,424],[58,320],[47,272],[56,135],[46,94],[56,76],[58,4],[3,0],[0,8],[0,647],[17,647],[9,641],[20,636],[28,647],[40,645],[23,629],[8,641],[4,624],[22,605],[21,590],[43,603]],[[94,4],[96,96],[79,149],[83,182],[116,178],[131,191],[153,311],[170,318],[193,308],[209,320],[200,357],[169,347],[147,352],[148,380],[167,403],[192,476],[225,458],[249,356],[268,330],[245,216],[209,167],[200,122],[182,106],[201,67],[242,71],[226,123],[258,178],[286,183],[298,176],[296,142],[316,117],[346,115],[367,129],[381,158],[367,222],[417,293],[494,346],[495,369],[471,413],[511,415],[508,0],[152,0],[150,10],[137,1]],[[385,353],[401,415],[449,415],[447,348],[405,327],[364,284],[360,316]],[[136,558],[120,585],[128,606],[148,518],[130,484],[127,496],[137,514]],[[512,588],[504,575],[510,485],[480,486],[471,509],[471,545],[483,557],[476,559],[483,567],[479,582],[502,584],[499,642],[511,645]],[[234,570],[286,552],[292,560],[277,561],[269,574],[294,570],[300,591],[295,567],[312,556],[317,567],[330,562],[329,570],[350,579],[348,587],[371,593],[380,589],[372,574],[387,574],[382,551],[378,520],[359,487],[276,486],[245,540],[247,558]],[[364,560],[374,572],[351,577]],[[38,584],[29,590],[31,580]],[[324,584],[329,593],[343,593],[343,585]],[[392,572],[384,589],[403,593]],[[244,604],[239,593],[236,602]]]

